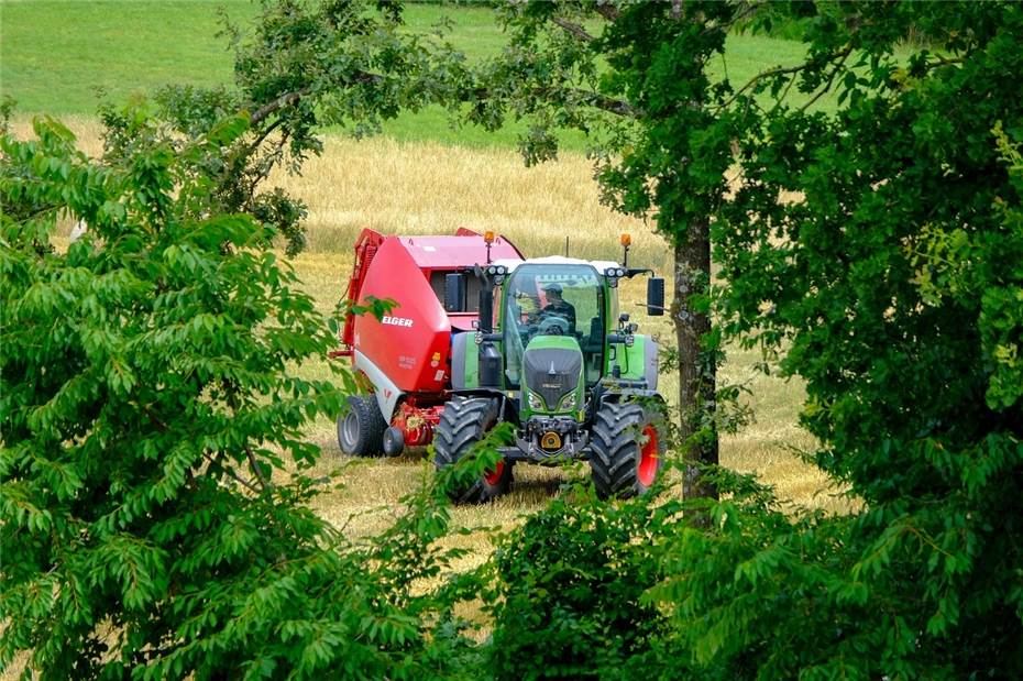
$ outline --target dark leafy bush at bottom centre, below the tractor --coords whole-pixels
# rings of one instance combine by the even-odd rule
[[[653,528],[669,505],[553,499],[493,559],[491,660],[498,679],[646,677],[664,618],[641,602],[661,575]],[[663,529],[663,528],[662,528]]]

